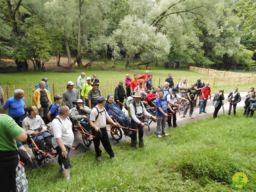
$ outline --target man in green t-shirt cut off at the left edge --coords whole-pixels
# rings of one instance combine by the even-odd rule
[[[27,133],[6,114],[0,114],[0,191],[16,191],[18,147],[16,141],[27,140]]]

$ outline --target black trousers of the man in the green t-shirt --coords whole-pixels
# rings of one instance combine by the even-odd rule
[[[0,151],[0,191],[16,192],[17,151]]]

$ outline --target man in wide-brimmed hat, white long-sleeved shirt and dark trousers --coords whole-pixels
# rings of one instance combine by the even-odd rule
[[[149,118],[152,118],[156,120],[156,117],[152,116],[149,114],[142,102],[140,101],[140,93],[136,92],[134,94],[134,100],[130,103],[129,109],[130,109],[130,115],[131,115],[131,127],[133,129],[139,130],[139,147],[143,148],[144,147],[144,142],[143,142],[143,134],[144,130],[143,127],[145,126],[144,124],[144,118],[143,115],[148,116]],[[132,131],[132,138],[131,138],[131,145],[130,145],[134,150],[136,150],[137,146],[137,131]]]

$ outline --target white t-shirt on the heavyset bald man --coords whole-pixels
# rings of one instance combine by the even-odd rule
[[[56,118],[59,118],[59,116],[57,116]],[[65,120],[60,119],[60,121],[56,118],[52,120],[50,126],[50,130],[53,135],[52,146],[56,148],[58,146],[56,138],[62,138],[64,145],[68,146],[69,148],[72,147],[72,144],[74,142],[74,134],[72,131],[71,121],[68,118],[66,118]]]

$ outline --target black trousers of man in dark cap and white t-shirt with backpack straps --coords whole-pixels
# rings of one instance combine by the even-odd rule
[[[114,151],[112,150],[112,147],[111,147],[111,144],[110,144],[110,141],[108,138],[108,131],[107,131],[106,127],[100,128],[100,131],[102,133],[102,138],[100,137],[100,134],[98,134],[98,132],[96,132],[96,130],[94,128],[92,128],[92,135],[95,136],[93,138],[93,143],[94,143],[94,149],[96,152],[96,156],[97,157],[101,156],[101,149],[100,149],[100,142],[101,142],[104,149],[109,154],[110,158],[113,158],[115,155],[114,155]]]

